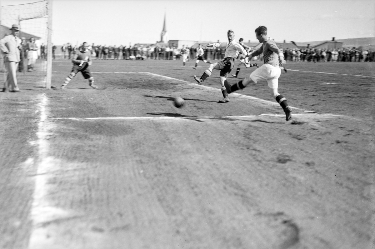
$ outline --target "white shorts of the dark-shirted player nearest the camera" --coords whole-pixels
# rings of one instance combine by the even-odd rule
[[[263,64],[251,73],[250,78],[255,83],[260,80],[267,80],[269,88],[277,89],[280,75],[281,69],[279,66],[274,67],[270,64]]]

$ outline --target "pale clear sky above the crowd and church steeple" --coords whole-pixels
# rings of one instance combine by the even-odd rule
[[[40,0],[1,0],[0,7]],[[51,0],[52,42],[133,45],[160,40],[166,15],[170,40],[257,42],[266,26],[275,41],[375,37],[374,0]],[[43,21],[44,22],[44,21]],[[3,22],[1,24],[4,24]],[[21,24],[26,27],[28,24]],[[37,25],[39,30],[45,28]],[[37,32],[37,31],[35,31]],[[31,33],[31,32],[30,32]]]

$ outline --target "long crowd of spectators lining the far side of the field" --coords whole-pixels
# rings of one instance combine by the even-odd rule
[[[202,44],[204,45],[204,44]],[[79,46],[66,43],[62,46],[62,58],[71,59],[72,54]],[[186,48],[188,59],[194,60],[196,47]],[[215,49],[203,46],[204,57],[207,60],[223,60],[225,49]],[[89,46],[93,57],[101,60],[178,60],[181,57],[181,49],[168,46],[107,46],[92,44]],[[374,49],[340,48],[287,48],[281,49],[287,61],[293,62],[375,62]],[[263,60],[262,56],[252,60]]]

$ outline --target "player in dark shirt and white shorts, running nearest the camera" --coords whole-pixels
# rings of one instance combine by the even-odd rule
[[[243,89],[249,83],[257,83],[261,80],[266,80],[270,88],[270,93],[273,98],[281,105],[284,109],[287,121],[292,118],[292,109],[287,103],[287,99],[284,98],[280,93],[278,93],[279,77],[281,74],[281,69],[279,66],[284,66],[284,54],[278,48],[276,43],[268,37],[267,28],[265,26],[259,26],[255,29],[255,35],[259,42],[263,45],[255,51],[249,53],[249,57],[257,56],[263,53],[263,62],[264,64],[259,68],[255,69],[248,77],[244,80],[229,85],[228,81],[225,82],[226,91],[228,93],[233,93],[239,89]]]

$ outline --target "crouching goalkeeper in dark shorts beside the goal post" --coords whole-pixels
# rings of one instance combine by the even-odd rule
[[[77,75],[78,72],[81,72],[83,77],[86,79],[89,79],[89,86],[97,89],[98,87],[95,86],[94,83],[94,78],[91,75],[89,66],[92,64],[92,58],[91,58],[91,52],[88,49],[89,48],[89,43],[84,42],[82,43],[81,50],[76,50],[74,52],[74,56],[72,59],[73,62],[73,68],[72,72],[66,77],[63,85],[61,86],[61,89],[64,89],[66,85],[68,85],[69,81],[72,80],[72,78]]]

